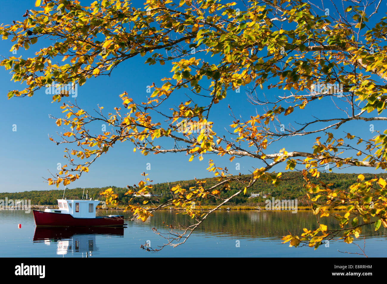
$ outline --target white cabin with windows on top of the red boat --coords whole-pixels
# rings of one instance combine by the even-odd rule
[[[99,200],[57,199],[59,209],[45,209],[45,212],[70,214],[74,218],[95,218]]]

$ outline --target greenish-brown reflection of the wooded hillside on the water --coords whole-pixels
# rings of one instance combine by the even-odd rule
[[[343,214],[342,211],[334,212]],[[125,215],[128,217],[128,215]],[[136,226],[155,227],[159,231],[165,229],[163,222],[169,224],[180,224],[189,226],[194,223],[193,219],[187,218],[186,215],[161,211],[148,218],[149,224],[137,221]],[[320,223],[326,224],[329,228],[340,229],[339,221],[333,216],[319,218]],[[373,221],[373,218],[371,218]],[[360,219],[359,223],[363,221]],[[129,222],[128,226],[133,226]],[[281,238],[288,235],[289,232],[296,235],[303,233],[303,228],[314,230],[318,228],[317,218],[311,211],[298,211],[296,214],[291,211],[215,211],[203,222],[196,230],[195,234],[228,237],[228,238],[245,238],[271,241],[273,238],[279,242]],[[362,228],[366,238],[386,237],[387,228],[381,228],[375,231],[373,224],[365,225]]]

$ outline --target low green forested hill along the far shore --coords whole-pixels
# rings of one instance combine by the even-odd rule
[[[366,173],[365,180],[372,179],[374,174]],[[356,182],[358,174],[357,173],[320,173],[319,180],[324,182],[325,184],[332,183],[332,189],[340,188],[347,189],[349,185]],[[247,176],[246,176],[247,177]],[[377,177],[385,177],[385,174],[377,174]],[[233,204],[250,204],[254,202],[262,202],[263,199],[260,197],[250,198],[251,193],[259,193],[262,194],[271,194],[271,197],[275,197],[276,199],[298,199],[298,205],[303,204],[303,196],[305,196],[305,191],[303,189],[304,180],[300,172],[285,172],[282,174],[283,181],[277,186],[274,187],[272,184],[267,184],[262,180],[258,180],[252,187],[248,189],[248,192],[245,196],[236,196],[230,202],[230,205]],[[202,179],[206,180],[206,187],[211,187],[216,184],[216,180],[214,178]],[[315,178],[311,178],[312,182],[317,183],[318,180]],[[156,195],[163,195],[160,198],[160,201],[166,200],[170,196],[169,187],[172,188],[174,185],[180,184],[184,188],[189,188],[195,186],[195,180],[182,180],[176,182],[169,182],[168,184],[160,183],[153,185],[153,193]],[[127,188],[115,187],[115,186],[105,186],[99,188],[86,188],[84,197],[86,198],[86,190],[89,190],[89,198],[103,200],[99,195],[103,190],[112,187],[113,190],[118,193],[118,197],[127,202],[129,197],[124,196],[124,193],[127,191]],[[239,189],[243,187],[240,183],[231,182],[231,190],[225,191],[221,193],[221,197],[231,196]],[[75,188],[75,189],[66,189],[65,197],[67,199],[81,199],[83,188]],[[261,194],[261,196],[262,196]],[[5,200],[5,197],[8,199],[31,199],[31,204],[34,205],[53,205],[57,204],[57,199],[61,199],[63,196],[63,190],[33,190],[33,191],[24,191],[24,192],[3,192],[0,193],[0,199]],[[206,202],[206,204],[215,204],[215,200],[210,200]]]

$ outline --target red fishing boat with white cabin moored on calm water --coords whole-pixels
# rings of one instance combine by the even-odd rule
[[[36,226],[118,227],[125,226],[123,216],[96,216],[99,200],[57,199],[59,209],[33,210]]]

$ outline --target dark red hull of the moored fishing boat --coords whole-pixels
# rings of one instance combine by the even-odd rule
[[[36,226],[60,227],[117,227],[124,226],[123,216],[101,216],[96,218],[74,218],[70,214],[33,210]]]

